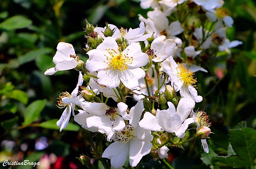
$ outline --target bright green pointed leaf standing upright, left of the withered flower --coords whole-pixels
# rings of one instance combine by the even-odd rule
[[[46,100],[36,100],[33,101],[31,104],[29,104],[28,107],[26,107],[25,113],[24,113],[24,122],[25,124],[30,124],[33,121],[37,120],[40,116],[41,111],[44,109],[44,106],[46,104]]]

